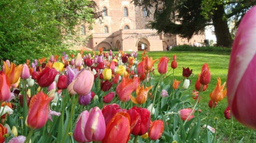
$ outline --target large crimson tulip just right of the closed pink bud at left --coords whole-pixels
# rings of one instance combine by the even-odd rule
[[[37,75],[37,83],[41,87],[48,87],[54,81],[55,76],[57,75],[57,71],[54,68],[49,68],[48,66]]]

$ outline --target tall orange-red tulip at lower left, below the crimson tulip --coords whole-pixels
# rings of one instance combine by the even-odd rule
[[[32,97],[27,119],[30,128],[39,129],[45,125],[48,120],[49,102],[51,102],[51,99],[42,91]]]

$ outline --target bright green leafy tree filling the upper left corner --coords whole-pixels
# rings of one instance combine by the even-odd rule
[[[77,39],[77,26],[101,17],[91,0],[0,0],[0,59],[25,62],[57,54]]]

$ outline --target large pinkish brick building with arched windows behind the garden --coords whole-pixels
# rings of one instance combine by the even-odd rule
[[[90,31],[86,26],[81,26],[81,37],[90,36],[86,44],[77,46],[78,49],[99,50],[103,47],[123,51],[163,51],[167,45],[192,45],[205,39],[204,35],[195,35],[187,41],[176,35],[157,34],[157,31],[150,29],[148,24],[149,21],[153,21],[153,15],[147,17],[147,11],[135,7],[131,0],[94,1],[103,11],[103,20],[102,23],[96,20],[93,30]]]

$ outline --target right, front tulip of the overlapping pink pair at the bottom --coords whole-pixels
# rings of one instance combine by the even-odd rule
[[[92,141],[101,141],[106,133],[106,125],[99,107],[91,108],[85,125],[85,137]]]

